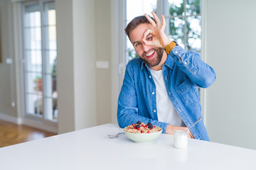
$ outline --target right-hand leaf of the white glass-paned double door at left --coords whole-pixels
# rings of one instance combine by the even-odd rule
[[[43,3],[43,78],[46,120],[58,120],[57,46],[54,2]]]

